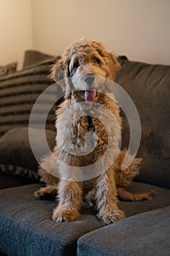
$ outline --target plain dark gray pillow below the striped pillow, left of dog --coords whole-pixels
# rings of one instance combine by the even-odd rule
[[[36,143],[36,154],[42,158],[47,154],[39,129],[31,129]],[[46,129],[47,143],[53,151],[55,144],[55,132]],[[12,174],[26,178],[39,180],[37,174],[39,163],[31,150],[28,136],[28,128],[13,128],[0,139],[0,173]]]

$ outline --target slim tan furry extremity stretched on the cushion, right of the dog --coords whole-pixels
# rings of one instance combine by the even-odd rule
[[[130,201],[142,201],[142,200],[150,200],[152,199],[153,195],[155,195],[154,190],[150,190],[149,192],[139,193],[139,194],[132,194],[122,187],[117,188],[118,197],[123,200],[130,200]]]

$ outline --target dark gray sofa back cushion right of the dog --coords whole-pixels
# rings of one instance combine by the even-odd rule
[[[170,66],[122,61],[115,82],[133,99],[141,119],[138,156],[143,162],[136,181],[170,188]],[[123,116],[123,146],[128,143],[128,121]]]

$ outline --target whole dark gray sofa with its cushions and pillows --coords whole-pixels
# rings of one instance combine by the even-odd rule
[[[85,204],[77,221],[55,223],[51,215],[56,202],[34,197],[42,184],[28,141],[28,118],[36,98],[51,83],[47,73],[56,59],[28,51],[22,71],[0,77],[0,255],[170,255],[170,67],[120,58],[122,68],[115,78],[133,99],[142,123],[142,168],[128,191],[153,189],[155,196],[142,202],[120,201],[127,218],[109,226]],[[56,94],[58,90],[56,86]],[[51,148],[57,105],[47,117]],[[122,146],[128,147],[128,121],[123,111],[121,115]],[[41,141],[39,154],[45,154]]]

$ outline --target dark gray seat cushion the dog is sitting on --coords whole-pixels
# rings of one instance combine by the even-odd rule
[[[104,225],[96,218],[94,209],[87,206],[82,207],[82,215],[75,222],[53,222],[51,216],[57,203],[34,197],[34,191],[41,186],[42,184],[29,184],[1,189],[0,251],[9,256],[76,255],[78,238]],[[134,192],[148,189],[155,189],[157,192],[150,201],[120,201],[119,206],[127,217],[170,205],[169,189],[135,182],[129,188]],[[126,221],[128,222],[128,218],[123,220]]]

